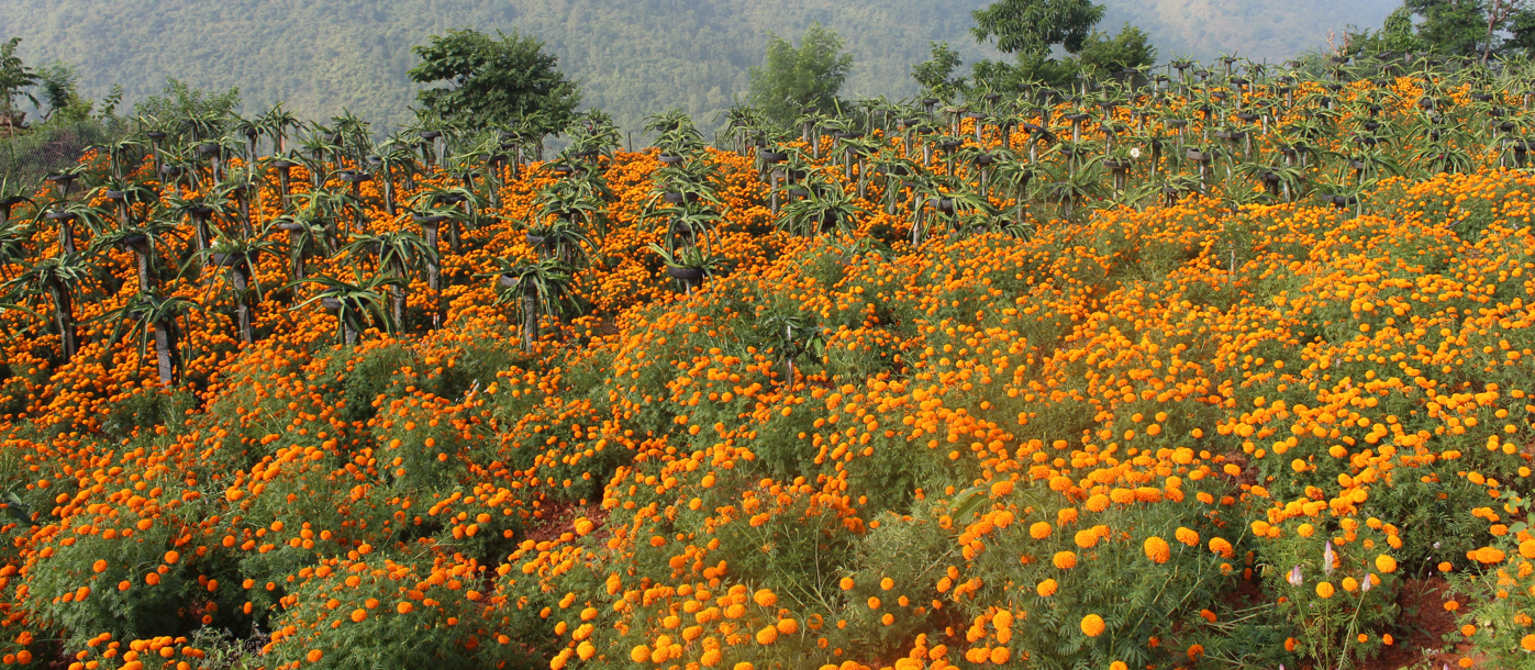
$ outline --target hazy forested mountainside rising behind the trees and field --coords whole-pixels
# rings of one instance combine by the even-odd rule
[[[542,38],[583,81],[586,104],[629,129],[683,107],[700,121],[744,94],[769,32],[797,38],[820,21],[857,58],[847,95],[916,94],[910,64],[927,41],[967,60],[998,57],[967,29],[990,0],[8,0],[0,37],[21,57],[74,63],[81,92],[112,84],[127,101],[167,77],[207,89],[239,87],[246,112],[287,101],[305,118],[342,109],[384,130],[410,118],[410,48],[448,28],[520,29]],[[1110,0],[1102,28],[1133,21],[1164,58],[1240,52],[1285,57],[1325,44],[1328,29],[1377,26],[1397,0]]]

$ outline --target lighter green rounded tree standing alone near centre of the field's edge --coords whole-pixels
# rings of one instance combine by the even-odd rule
[[[766,63],[751,69],[752,104],[778,123],[791,123],[803,107],[832,110],[853,66],[852,54],[841,51],[843,40],[820,23],[804,31],[798,49],[769,34]]]

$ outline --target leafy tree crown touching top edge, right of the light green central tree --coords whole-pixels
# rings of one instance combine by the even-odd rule
[[[1056,44],[1076,54],[1104,18],[1104,6],[1091,0],[998,0],[970,15],[976,41],[995,40],[1002,54],[1041,55]]]

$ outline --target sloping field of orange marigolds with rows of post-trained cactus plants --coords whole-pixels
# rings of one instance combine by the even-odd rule
[[[94,150],[0,224],[0,656],[1535,667],[1529,95],[1219,81]]]

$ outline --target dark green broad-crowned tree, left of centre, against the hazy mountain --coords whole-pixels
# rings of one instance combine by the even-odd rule
[[[516,31],[496,31],[496,37],[453,29],[411,49],[421,63],[410,69],[410,80],[445,83],[416,94],[422,112],[453,124],[513,126],[536,118],[536,130],[565,129],[580,104],[580,86],[559,71],[559,58],[537,38]]]

